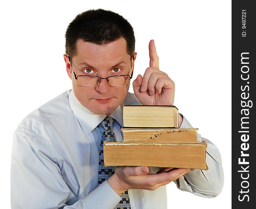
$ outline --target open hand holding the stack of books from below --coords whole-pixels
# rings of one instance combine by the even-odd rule
[[[108,179],[108,184],[118,195],[127,189],[155,190],[180,178],[190,170],[193,169],[177,168],[169,172],[148,174],[149,169],[146,166],[118,166],[115,173]]]

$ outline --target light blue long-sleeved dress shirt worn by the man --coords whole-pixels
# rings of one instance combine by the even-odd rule
[[[127,93],[124,105],[140,105]],[[111,117],[113,131],[122,141],[122,107]],[[120,196],[104,181],[98,186],[98,155],[106,115],[89,111],[68,90],[23,119],[14,132],[11,160],[12,209],[113,209]],[[182,127],[192,127],[183,116]],[[221,155],[207,145],[209,170],[193,170],[175,181],[177,187],[213,198],[223,187]],[[159,168],[150,168],[155,173]],[[129,189],[131,209],[167,208],[166,186],[155,191]]]

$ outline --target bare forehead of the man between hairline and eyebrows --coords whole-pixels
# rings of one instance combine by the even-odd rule
[[[118,60],[128,61],[130,55],[127,53],[126,40],[124,38],[103,45],[78,39],[76,42],[76,55],[73,58],[78,62],[87,60],[102,63]]]

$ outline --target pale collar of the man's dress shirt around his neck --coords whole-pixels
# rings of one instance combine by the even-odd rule
[[[97,127],[98,124],[100,124],[101,121],[103,121],[103,119],[106,117],[105,114],[95,114],[84,107],[78,101],[78,99],[76,99],[73,90],[71,90],[68,95],[68,101],[75,117],[78,119],[78,122],[85,132],[85,135],[88,135],[93,129],[95,129],[95,127]],[[118,106],[111,114],[109,114],[109,116],[114,118],[119,125],[123,127],[123,114],[121,106],[123,107],[123,104]]]

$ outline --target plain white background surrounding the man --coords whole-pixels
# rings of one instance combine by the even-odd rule
[[[148,43],[155,40],[160,70],[175,82],[174,105],[220,150],[221,194],[202,198],[170,183],[168,208],[231,208],[231,0],[124,2],[1,3],[1,208],[10,208],[13,132],[31,111],[72,87],[63,58],[65,31],[78,13],[97,8],[115,11],[133,26],[134,78],[149,67]]]

